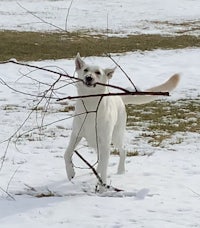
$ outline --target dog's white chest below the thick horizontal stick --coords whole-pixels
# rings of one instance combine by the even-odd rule
[[[78,128],[89,146],[96,148],[99,140],[102,141],[112,136],[112,126],[117,117],[115,108],[109,100],[81,101],[77,103],[76,113],[83,113],[79,116]]]

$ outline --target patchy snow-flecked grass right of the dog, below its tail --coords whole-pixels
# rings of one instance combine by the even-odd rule
[[[199,110],[199,99],[157,101],[134,107],[129,105],[127,126],[133,130],[142,130],[141,137],[148,138],[148,142],[154,146],[160,146],[175,133],[200,133]],[[178,138],[176,143],[181,142],[182,138]]]

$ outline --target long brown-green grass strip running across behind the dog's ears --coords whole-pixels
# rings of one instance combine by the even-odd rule
[[[77,33],[39,33],[0,31],[0,60],[16,58],[20,61],[100,56],[136,50],[177,49],[200,47],[200,38],[189,35],[176,37],[161,35],[130,35],[109,37]]]

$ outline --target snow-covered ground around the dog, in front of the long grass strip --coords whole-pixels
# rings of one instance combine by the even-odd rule
[[[126,69],[141,87],[159,84],[171,74],[180,72],[180,86],[171,98],[199,97],[199,49],[174,51],[137,52],[116,55],[114,58]],[[112,66],[108,58],[90,57],[89,63]],[[34,62],[37,66],[57,66],[73,74],[74,60]],[[22,73],[27,68],[14,64],[0,65],[1,78],[15,89],[37,94],[42,88],[31,83]],[[47,73],[32,72],[31,76],[50,82]],[[55,77],[54,77],[55,78]],[[117,70],[113,84],[130,86],[124,75]],[[65,87],[60,97],[75,94],[75,88]],[[1,141],[11,136],[29,115],[33,98],[8,90],[0,85]],[[62,113],[63,105],[53,101],[44,118],[44,124],[71,117],[72,112]],[[41,114],[33,113],[20,132],[29,131],[41,124]],[[116,175],[117,156],[111,156],[109,181],[124,192],[94,193],[96,178],[88,169],[76,168],[73,182],[66,179],[63,153],[71,132],[72,118],[46,127],[42,132],[27,132],[17,144],[11,143],[6,161],[0,172],[0,187],[8,190],[15,201],[2,190],[0,223],[3,227],[200,227],[200,135],[177,133],[182,143],[152,147],[138,136],[140,131],[126,133],[125,148],[142,151],[151,156],[128,157],[126,174]],[[137,137],[137,140],[135,140]],[[138,140],[139,139],[139,140]],[[134,142],[134,144],[133,144]],[[85,146],[80,152],[93,164],[96,155]],[[1,154],[7,142],[0,144]],[[78,167],[86,167],[74,156]],[[35,198],[52,193],[54,197]],[[196,192],[196,193],[195,193]]]

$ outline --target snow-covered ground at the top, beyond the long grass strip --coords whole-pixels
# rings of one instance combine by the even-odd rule
[[[68,31],[109,29],[117,34],[200,33],[199,0],[0,0],[1,29],[56,30],[37,17],[61,29],[67,27]]]

